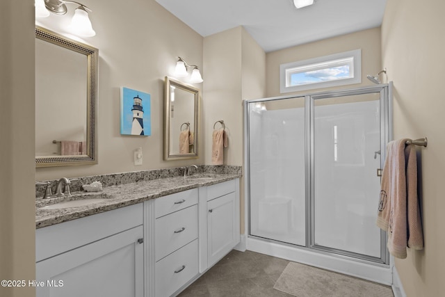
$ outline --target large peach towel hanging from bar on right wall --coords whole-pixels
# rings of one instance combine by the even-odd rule
[[[417,159],[415,145],[408,139],[391,141],[383,168],[377,225],[388,232],[388,250],[405,259],[406,248],[421,250],[423,233],[417,197]]]

